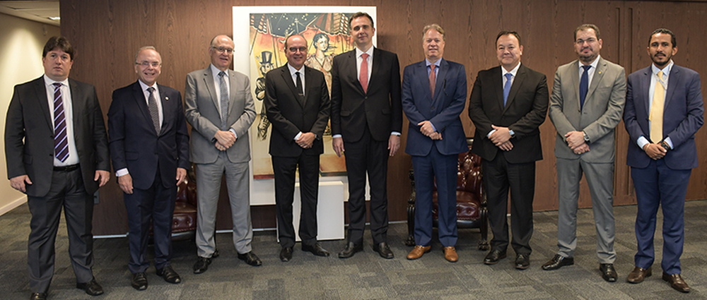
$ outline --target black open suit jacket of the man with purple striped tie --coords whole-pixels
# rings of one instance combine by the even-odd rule
[[[110,171],[103,112],[95,88],[69,78],[74,117],[74,142],[86,193],[98,190],[96,170]],[[28,175],[27,195],[47,195],[54,167],[54,125],[44,76],[15,86],[5,123],[5,160],[8,179]]]

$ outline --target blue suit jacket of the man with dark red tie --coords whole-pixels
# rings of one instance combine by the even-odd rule
[[[414,156],[428,155],[432,144],[443,155],[469,151],[459,115],[467,102],[467,72],[464,65],[440,61],[432,98],[425,61],[405,67],[402,78],[402,109],[410,121],[405,152]],[[441,140],[432,140],[420,132],[417,124],[430,121]]]

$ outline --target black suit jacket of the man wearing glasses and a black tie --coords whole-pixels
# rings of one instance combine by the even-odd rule
[[[324,152],[322,136],[327,128],[331,102],[324,73],[303,66],[305,95],[298,95],[287,64],[265,74],[265,113],[272,124],[270,155],[298,157]],[[297,133],[315,133],[312,148],[295,143]],[[389,133],[390,134],[390,133]]]

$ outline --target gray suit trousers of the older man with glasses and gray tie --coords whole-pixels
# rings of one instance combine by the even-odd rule
[[[248,162],[230,162],[226,151],[218,153],[216,162],[196,164],[197,175],[197,255],[210,258],[216,251],[216,209],[221,193],[221,178],[226,174],[226,187],[233,221],[233,246],[238,253],[252,250],[253,226],[250,220],[250,181]]]

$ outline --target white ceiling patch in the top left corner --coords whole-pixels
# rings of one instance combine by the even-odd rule
[[[59,26],[59,20],[49,17],[59,16],[59,0],[49,1],[0,1],[0,13]]]

